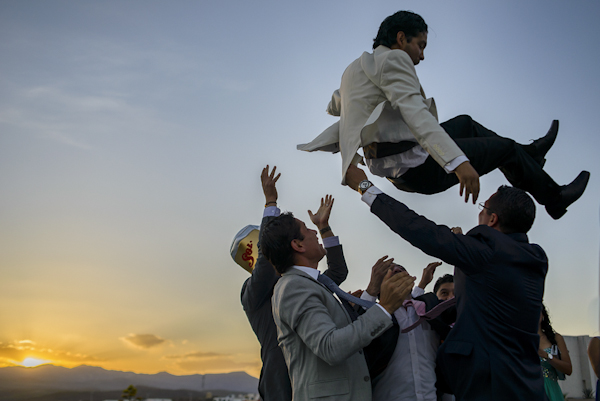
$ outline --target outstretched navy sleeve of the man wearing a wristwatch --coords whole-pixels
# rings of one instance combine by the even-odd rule
[[[479,272],[493,257],[493,243],[479,235],[485,229],[493,230],[489,227],[476,227],[468,235],[454,234],[447,226],[436,225],[386,194],[377,195],[371,212],[413,246],[466,274]]]

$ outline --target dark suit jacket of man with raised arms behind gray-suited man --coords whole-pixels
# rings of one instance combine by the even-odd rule
[[[274,217],[264,217],[261,230]],[[263,366],[258,381],[258,392],[264,401],[291,401],[292,385],[281,348],[277,343],[277,326],[273,320],[271,297],[279,276],[273,265],[260,252],[248,278],[242,286],[242,306],[254,334],[260,342]],[[327,248],[328,269],[323,273],[340,285],[348,275],[342,246]]]

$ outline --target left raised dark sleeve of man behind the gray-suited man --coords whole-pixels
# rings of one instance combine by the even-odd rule
[[[260,225],[263,227],[274,217],[263,217]],[[252,271],[252,276],[246,280],[242,287],[242,305],[244,310],[256,310],[260,308],[266,300],[273,294],[273,287],[277,282],[278,276],[273,265],[264,257],[258,244],[258,259],[256,266]]]

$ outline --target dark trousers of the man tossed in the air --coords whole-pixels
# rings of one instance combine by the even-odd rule
[[[440,125],[480,176],[499,168],[512,186],[529,192],[540,204],[558,200],[560,186],[542,170],[528,153],[532,150],[527,146],[498,136],[467,115],[454,117]],[[402,177],[388,179],[400,190],[421,194],[442,192],[459,182],[456,174],[446,173],[431,156]]]

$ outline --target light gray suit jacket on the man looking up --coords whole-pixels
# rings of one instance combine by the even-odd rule
[[[294,401],[371,400],[362,349],[392,326],[381,308],[352,322],[325,286],[290,268],[275,286],[273,318]]]

